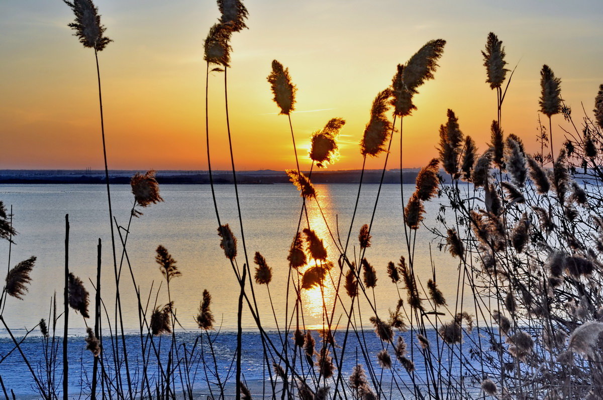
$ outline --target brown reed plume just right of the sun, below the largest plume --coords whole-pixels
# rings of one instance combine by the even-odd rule
[[[390,137],[392,125],[385,116],[388,110],[387,101],[391,96],[391,90],[385,89],[375,97],[371,107],[371,119],[364,128],[364,136],[360,143],[362,155],[376,156],[385,151],[385,141]]]

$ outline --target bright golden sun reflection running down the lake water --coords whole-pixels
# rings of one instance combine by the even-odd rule
[[[321,189],[318,198],[324,217],[321,214],[316,201],[306,201],[306,208],[308,210],[308,220],[306,223],[309,222],[310,229],[314,230],[317,236],[323,240],[324,246],[327,249],[328,260],[331,261],[335,267],[327,272],[322,287],[314,286],[310,289],[301,290],[301,305],[303,307],[305,327],[306,329],[311,330],[320,330],[328,326],[327,319],[331,318],[336,295],[335,285],[339,278],[339,267],[337,266],[339,252],[331,239],[329,228],[324,221],[324,219],[327,219],[329,225],[332,225],[332,221],[335,220],[335,218],[330,216],[327,211],[327,209],[330,208],[329,205],[331,201],[329,189],[327,187]],[[309,268],[320,265],[320,263],[321,261],[318,261],[317,264],[315,260],[311,260],[306,266],[301,267],[299,272],[303,274]]]

